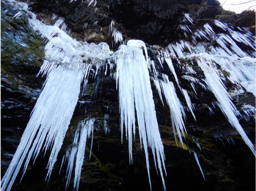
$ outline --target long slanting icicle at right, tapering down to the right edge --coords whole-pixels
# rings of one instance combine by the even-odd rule
[[[230,124],[236,128],[244,142],[248,145],[252,153],[255,155],[255,148],[252,142],[249,140],[244,132],[244,129],[239,124],[239,121],[236,118],[236,114],[238,114],[239,112],[237,111],[236,106],[232,103],[231,97],[229,96],[226,87],[222,83],[220,77],[218,76],[212,65],[206,64],[203,59],[197,59],[197,64],[204,71],[205,82],[212,90],[214,96],[217,98],[221,111],[225,114]]]

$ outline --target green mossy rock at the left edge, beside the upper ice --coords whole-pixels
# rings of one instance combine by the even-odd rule
[[[28,26],[27,16],[14,19],[1,14],[1,68],[13,59],[41,66],[44,57],[44,43]],[[4,66],[9,69],[8,66]]]

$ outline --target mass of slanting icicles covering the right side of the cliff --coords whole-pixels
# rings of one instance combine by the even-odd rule
[[[188,19],[188,15],[185,14],[185,17]],[[213,92],[219,102],[218,105],[221,111],[225,114],[230,124],[236,128],[244,142],[255,155],[255,148],[252,142],[244,133],[243,128],[236,118],[236,115],[241,116],[241,114],[237,111],[236,106],[232,103],[232,98],[228,94],[226,87],[222,82],[222,80],[225,80],[225,77],[223,73],[217,69],[216,65],[217,63],[220,65],[222,70],[230,74],[228,76],[228,80],[233,82],[237,89],[242,90],[242,87],[244,87],[247,91],[252,92],[255,96],[255,53],[246,53],[242,51],[235,42],[237,41],[243,43],[244,45],[250,46],[255,50],[255,45],[253,43],[255,41],[255,37],[245,28],[244,30],[240,29],[241,31],[245,32],[245,34],[242,34],[234,31],[233,29],[229,28],[227,24],[218,20],[215,20],[215,25],[222,28],[224,31],[228,31],[230,36],[228,34],[215,34],[209,24],[205,24],[204,30],[198,30],[194,33],[194,36],[197,36],[200,39],[205,37],[208,40],[211,38],[212,40],[215,40],[220,47],[210,46],[206,49],[208,45],[207,43],[198,43],[196,46],[193,46],[189,42],[180,40],[180,42],[176,42],[175,44],[169,44],[165,51],[167,54],[171,54],[174,57],[188,58],[191,61],[193,58],[196,58],[197,65],[204,71],[204,83],[206,83],[207,87],[193,76],[182,77],[191,82],[191,87],[195,93],[196,89],[194,83],[198,83],[204,89],[208,89]],[[208,35],[208,37],[206,35]],[[196,43],[196,38],[194,38],[193,42]],[[189,105],[191,107],[189,100],[187,100],[188,96],[186,93],[184,96],[186,98],[188,107]],[[190,107],[189,109],[192,113],[192,108]],[[209,108],[209,110],[210,113],[213,113],[211,108]]]

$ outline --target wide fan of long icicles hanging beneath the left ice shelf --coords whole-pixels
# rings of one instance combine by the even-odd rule
[[[35,159],[38,156],[44,141],[45,151],[52,149],[47,165],[47,177],[50,176],[78,100],[82,78],[82,71],[65,69],[61,66],[49,73],[20,144],[1,181],[2,190],[11,189],[27,157],[24,175],[30,158],[33,156]]]

